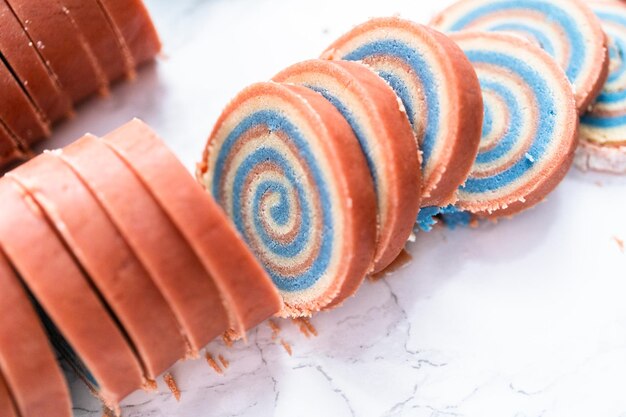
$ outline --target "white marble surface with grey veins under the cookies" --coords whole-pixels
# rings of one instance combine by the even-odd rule
[[[106,100],[82,106],[46,147],[103,134],[133,116],[190,169],[240,88],[314,57],[367,17],[426,22],[449,1],[149,0],[165,56]],[[125,417],[626,417],[626,179],[572,171],[549,200],[498,225],[438,229],[412,262],[320,314],[247,344],[212,343],[229,366],[172,370],[177,402],[124,402]],[[281,344],[288,343],[290,356]],[[77,417],[102,411],[72,383]]]

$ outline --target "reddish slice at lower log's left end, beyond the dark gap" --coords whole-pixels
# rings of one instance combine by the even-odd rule
[[[17,192],[4,192],[10,186],[0,184],[3,207],[5,202],[11,206],[12,199],[20,198]],[[3,208],[3,216],[7,214]],[[14,231],[24,233],[21,229]],[[0,288],[0,415],[17,416],[15,411],[10,412],[13,398],[21,417],[45,416],[51,410],[55,416],[71,417],[70,394],[63,373],[28,294],[2,250]],[[8,401],[7,386],[12,394]]]

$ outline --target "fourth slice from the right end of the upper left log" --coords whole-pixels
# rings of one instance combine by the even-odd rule
[[[6,0],[0,0],[0,53],[45,118],[54,123],[72,113],[72,102],[55,82]]]

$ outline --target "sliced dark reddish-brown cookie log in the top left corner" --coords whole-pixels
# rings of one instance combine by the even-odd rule
[[[0,165],[161,47],[141,0],[2,0],[0,27]]]

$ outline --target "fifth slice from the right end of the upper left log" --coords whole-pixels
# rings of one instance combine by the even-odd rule
[[[18,148],[27,149],[29,144],[50,135],[50,126],[41,118],[11,70],[1,60],[0,91],[0,119]]]

